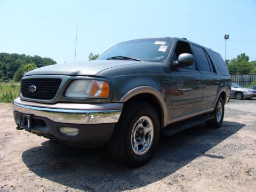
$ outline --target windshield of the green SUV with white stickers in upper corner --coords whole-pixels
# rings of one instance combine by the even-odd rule
[[[169,51],[171,38],[137,39],[119,43],[100,55],[97,60],[137,59],[163,61]]]

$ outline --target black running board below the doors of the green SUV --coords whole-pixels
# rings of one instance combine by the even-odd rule
[[[164,135],[170,136],[213,118],[213,115],[201,115],[190,119],[186,119],[185,121],[170,124],[164,127],[164,129],[162,129],[161,131],[163,132]]]

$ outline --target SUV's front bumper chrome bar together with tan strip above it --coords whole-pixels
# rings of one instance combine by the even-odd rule
[[[57,103],[54,105],[13,101],[13,112],[45,117],[57,123],[107,124],[117,123],[123,103]]]

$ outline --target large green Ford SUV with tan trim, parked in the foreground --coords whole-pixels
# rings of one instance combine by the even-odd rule
[[[69,146],[107,145],[126,166],[153,156],[159,134],[221,126],[230,75],[220,54],[183,38],[119,43],[95,61],[26,73],[13,102],[18,130]]]

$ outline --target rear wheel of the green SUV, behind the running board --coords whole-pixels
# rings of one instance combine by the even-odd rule
[[[215,105],[213,110],[214,118],[206,121],[206,125],[210,128],[217,129],[222,125],[223,117],[224,117],[224,101],[222,97],[220,97]]]

